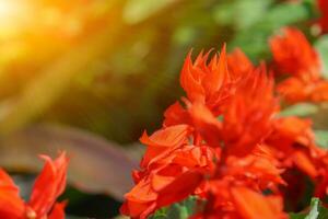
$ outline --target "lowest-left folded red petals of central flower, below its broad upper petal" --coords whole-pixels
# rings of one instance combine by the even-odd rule
[[[185,146],[156,159],[151,169],[136,172],[136,186],[126,194],[120,211],[147,218],[154,210],[195,194],[204,174],[213,171],[213,151],[208,147]]]

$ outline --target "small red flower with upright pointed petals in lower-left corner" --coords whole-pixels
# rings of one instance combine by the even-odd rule
[[[45,166],[36,178],[31,198],[25,203],[11,177],[0,169],[0,218],[65,219],[66,203],[56,203],[66,187],[68,158],[61,153],[52,161],[42,155]]]

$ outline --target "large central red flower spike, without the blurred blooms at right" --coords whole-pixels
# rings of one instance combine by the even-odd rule
[[[209,62],[208,56],[200,54],[192,64],[188,55],[180,77],[187,92],[185,107],[178,102],[169,106],[163,127],[141,137],[147,152],[141,170],[133,172],[136,186],[126,194],[121,212],[147,218],[197,195],[207,201],[198,218],[256,219],[256,212],[286,218],[279,196],[279,186],[285,185],[280,176],[284,158],[276,143],[290,143],[293,149],[294,142],[306,145],[312,139],[306,142],[303,129],[298,135],[288,123],[276,127],[279,106],[273,79],[263,66],[255,68],[239,50],[227,60],[224,48]],[[285,132],[290,141],[282,138]],[[276,136],[282,141],[276,142]],[[300,164],[301,153],[293,154],[294,164]],[[300,165],[305,172],[307,168]],[[265,196],[263,191],[274,195]]]

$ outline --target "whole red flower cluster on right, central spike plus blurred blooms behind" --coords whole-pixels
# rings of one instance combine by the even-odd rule
[[[327,100],[318,55],[293,28],[270,43],[274,71],[291,76],[278,84],[279,96],[272,73],[239,49],[187,56],[180,74],[187,97],[166,110],[160,130],[142,135],[147,151],[124,215],[147,218],[196,195],[206,205],[195,218],[284,219],[293,192],[286,188],[303,185],[297,174],[314,182],[316,196],[326,194],[328,153],[315,145],[311,120],[279,116],[281,97]]]

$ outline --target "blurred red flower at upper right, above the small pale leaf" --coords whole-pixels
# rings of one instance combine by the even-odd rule
[[[284,28],[270,41],[277,72],[291,77],[278,84],[278,92],[289,102],[328,100],[328,82],[320,78],[316,50],[296,28]]]

